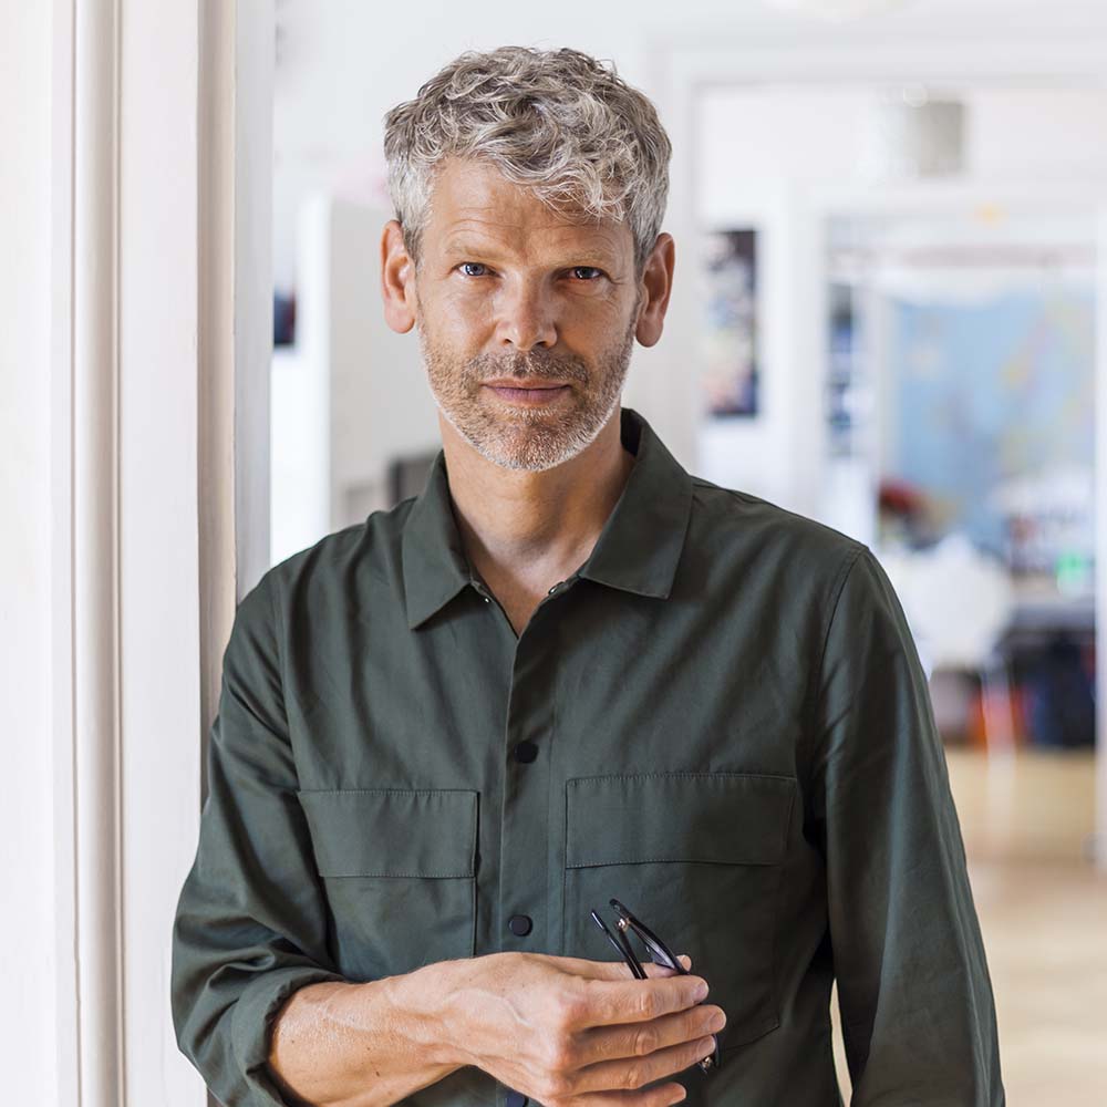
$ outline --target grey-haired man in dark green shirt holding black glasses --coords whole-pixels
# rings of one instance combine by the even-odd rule
[[[385,151],[443,449],[239,606],[182,1049],[228,1107],[815,1107],[837,980],[855,1104],[1002,1104],[888,578],[620,407],[674,267],[652,105],[576,51],[467,53]],[[685,971],[613,960],[611,899]]]

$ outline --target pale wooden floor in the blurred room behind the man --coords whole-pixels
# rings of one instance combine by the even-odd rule
[[[1107,1105],[1107,873],[1090,753],[946,752],[1012,1107]],[[837,1016],[837,1005],[834,1005]],[[837,1017],[836,1017],[837,1022]],[[849,1079],[838,1027],[838,1070]]]

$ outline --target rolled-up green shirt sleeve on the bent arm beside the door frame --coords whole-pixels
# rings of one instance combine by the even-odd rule
[[[343,980],[296,795],[268,583],[238,606],[224,652],[209,790],[173,925],[177,1043],[226,1107],[293,1107],[267,1068],[272,1020],[296,989]]]

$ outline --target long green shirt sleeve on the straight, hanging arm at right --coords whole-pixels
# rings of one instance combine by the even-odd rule
[[[815,724],[851,1103],[1002,1105],[992,984],[930,691],[867,546],[839,576]]]

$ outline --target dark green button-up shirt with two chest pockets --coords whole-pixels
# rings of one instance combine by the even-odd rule
[[[620,899],[711,984],[689,1105],[1002,1104],[927,679],[869,548],[690,476],[637,412],[591,555],[521,634],[426,487],[270,569],[224,655],[173,931],[182,1051],[284,1105],[294,989],[504,950],[615,954]],[[628,976],[630,975],[628,970]],[[505,1104],[475,1067],[420,1107]]]

